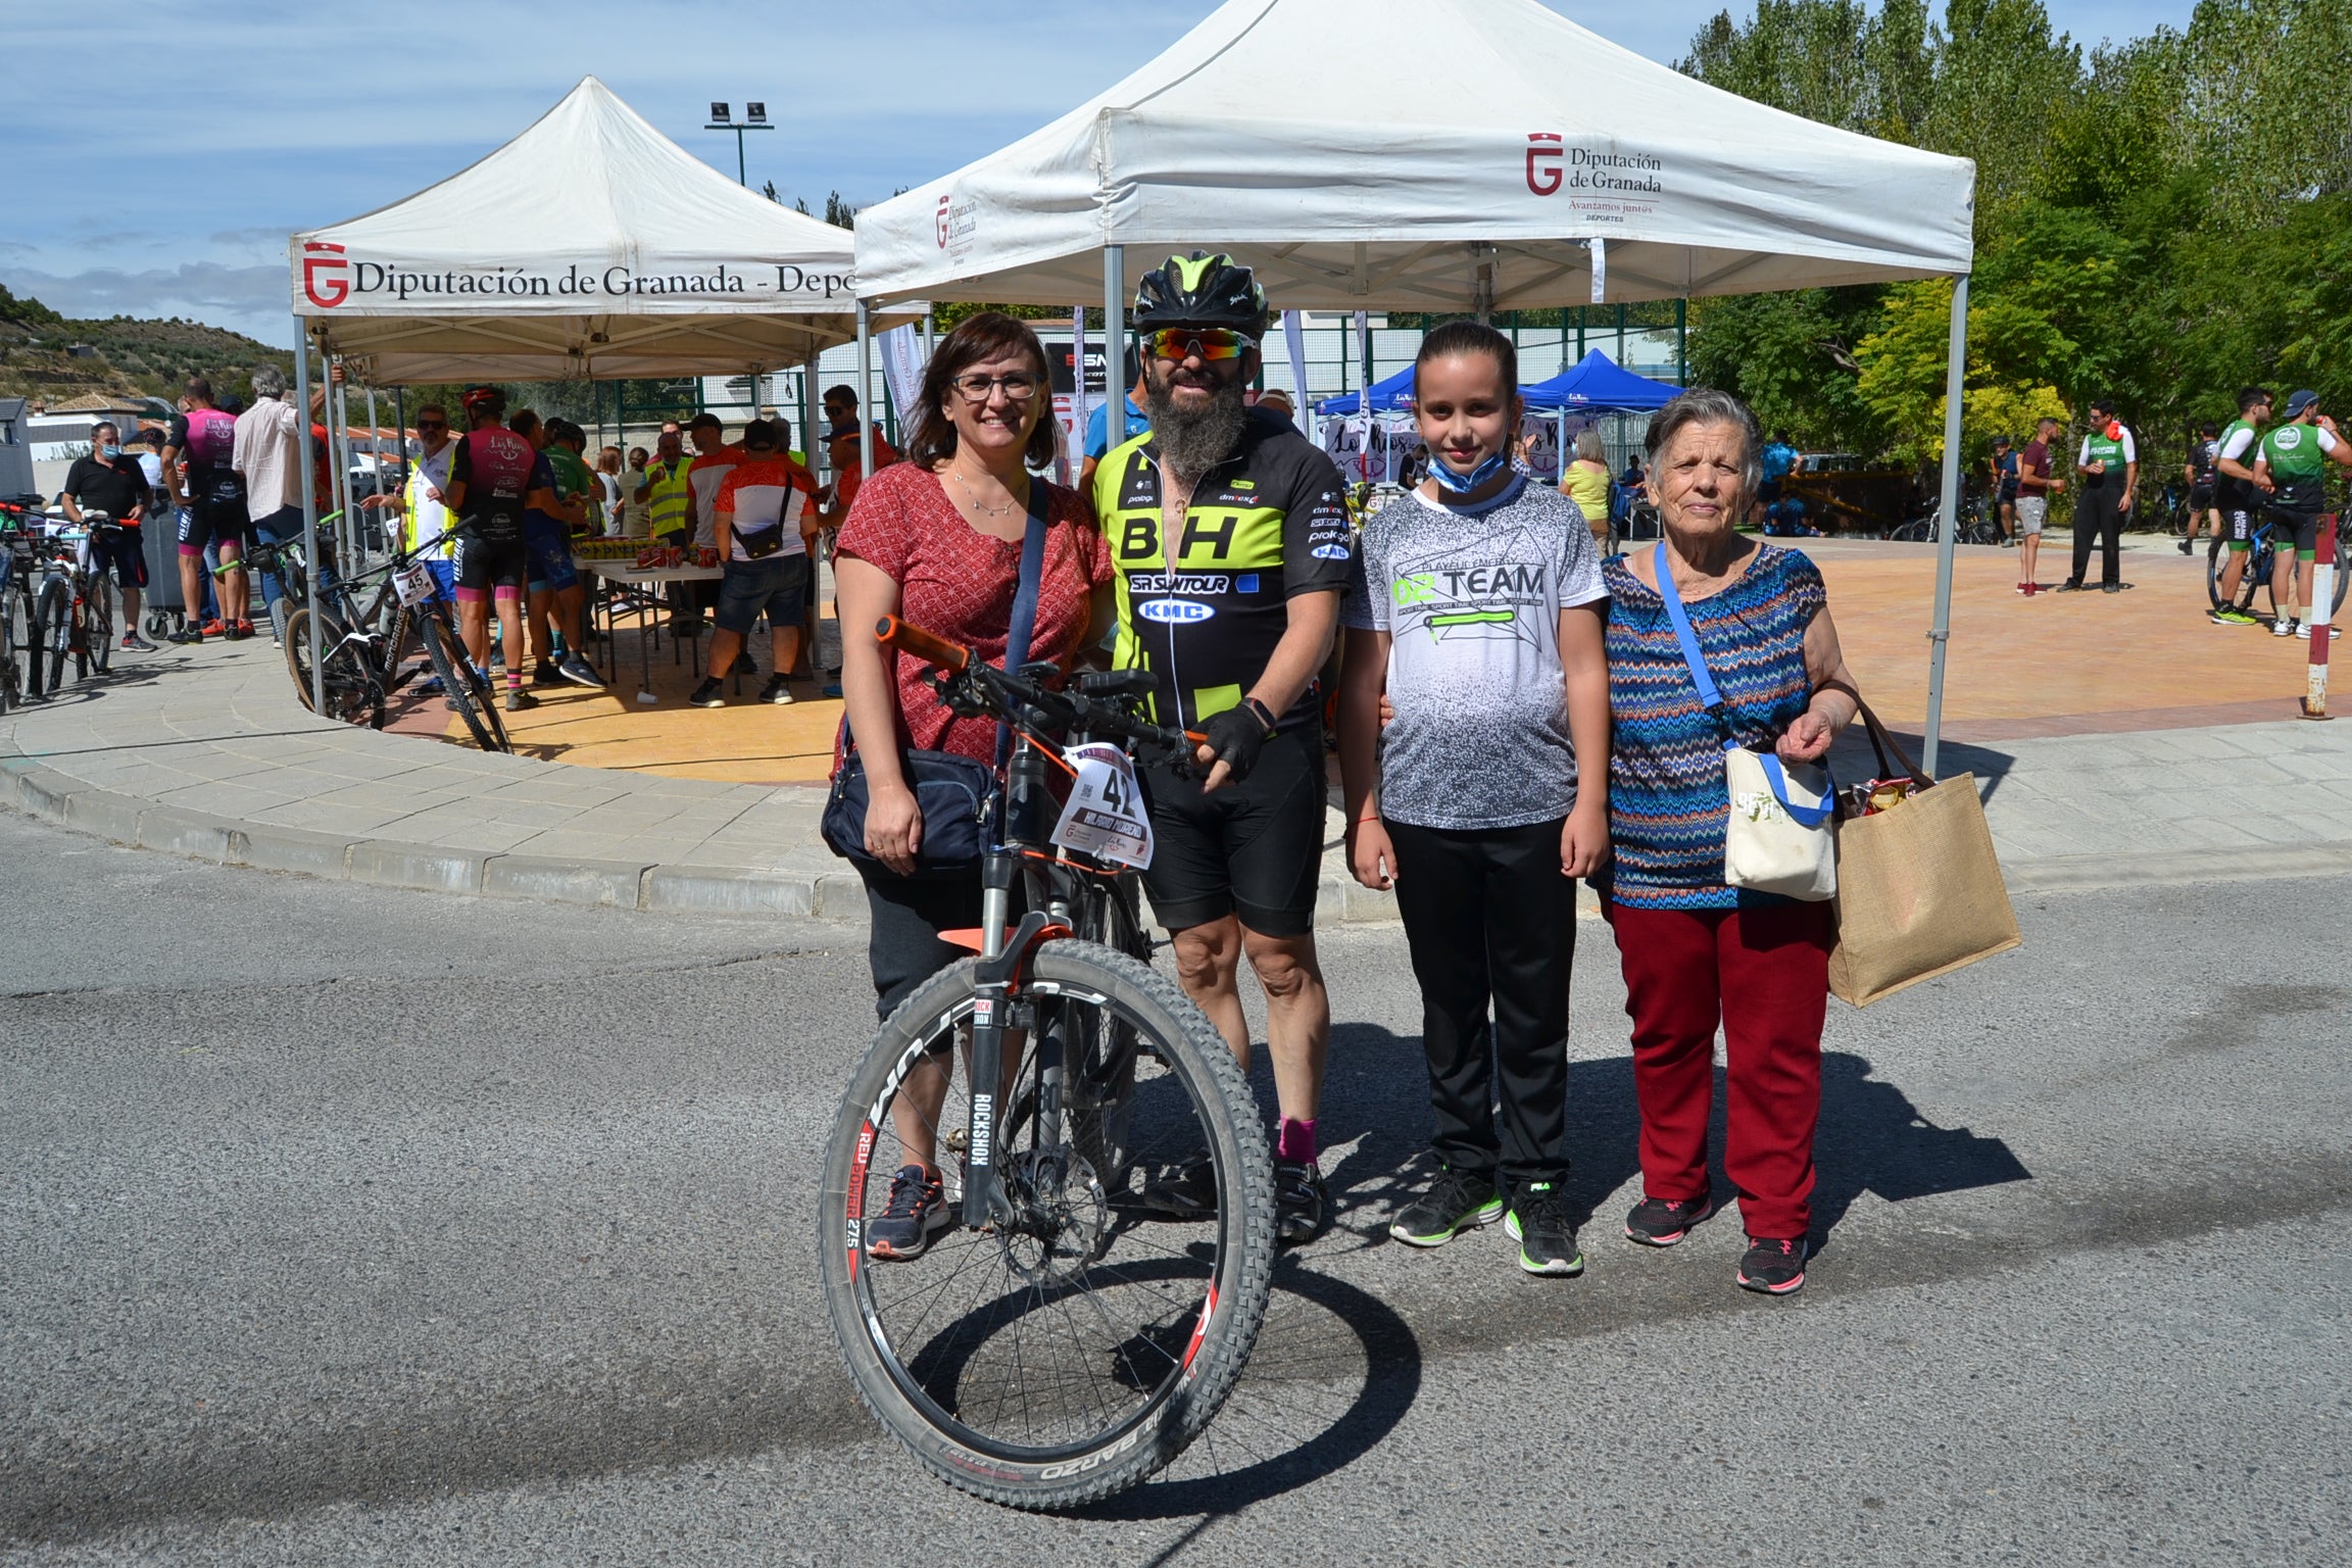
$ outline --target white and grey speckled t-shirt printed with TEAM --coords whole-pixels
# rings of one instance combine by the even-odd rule
[[[1585,515],[1526,477],[1475,508],[1411,491],[1376,512],[1341,618],[1390,635],[1381,816],[1451,830],[1566,816],[1559,611],[1606,597]]]

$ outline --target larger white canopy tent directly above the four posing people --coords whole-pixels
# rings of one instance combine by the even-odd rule
[[[856,277],[866,303],[1068,303],[1098,280],[1112,341],[1129,247],[1230,252],[1291,310],[1957,277],[1933,766],[1973,190],[1966,160],[1750,103],[1536,0],[1225,0],[1061,120],[861,212]]]

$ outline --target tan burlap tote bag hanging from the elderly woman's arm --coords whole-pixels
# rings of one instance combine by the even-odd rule
[[[1879,778],[1907,776],[1910,792],[1884,811],[1837,825],[1830,994],[1853,1006],[2023,943],[1985,806],[1976,799],[1976,776],[1933,780],[1870,708],[1863,708],[1863,724],[1879,755]]]

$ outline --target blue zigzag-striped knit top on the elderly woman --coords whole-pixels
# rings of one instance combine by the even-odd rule
[[[1637,545],[1653,550],[1656,545]],[[1698,705],[1675,623],[1656,588],[1625,559],[1602,567],[1609,588],[1609,898],[1637,910],[1733,910],[1788,903],[1724,882],[1724,743]],[[1769,745],[1813,689],[1804,628],[1828,604],[1820,569],[1759,543],[1748,571],[1705,599],[1684,599],[1698,651],[1724,693],[1731,736]]]

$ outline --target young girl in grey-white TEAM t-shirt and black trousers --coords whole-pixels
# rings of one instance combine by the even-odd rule
[[[1364,524],[1341,776],[1350,870],[1397,891],[1437,1119],[1437,1178],[1390,1234],[1442,1246],[1508,1213],[1522,1269],[1581,1274],[1562,1143],[1576,877],[1609,856],[1606,592],[1583,512],[1512,470],[1517,383],[1491,327],[1421,346],[1430,473]]]

